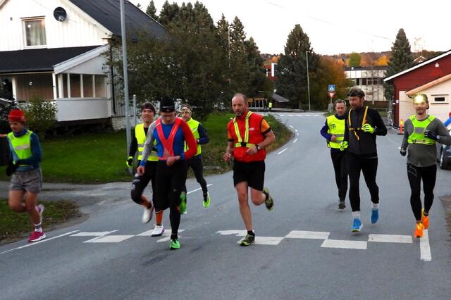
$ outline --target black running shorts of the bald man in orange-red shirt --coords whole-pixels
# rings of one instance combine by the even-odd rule
[[[233,161],[233,185],[240,182],[247,182],[249,187],[263,191],[265,182],[265,161],[251,161],[243,163]]]

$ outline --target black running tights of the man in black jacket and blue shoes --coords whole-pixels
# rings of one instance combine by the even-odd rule
[[[376,185],[378,157],[363,158],[348,151],[347,170],[350,175],[350,203],[352,211],[360,211],[360,171],[364,174],[366,187],[371,194],[371,202],[379,203],[379,187]]]

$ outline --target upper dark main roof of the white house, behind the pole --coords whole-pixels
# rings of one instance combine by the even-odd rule
[[[97,20],[101,25],[110,30],[113,35],[121,37],[121,6],[119,0],[69,0],[75,6]],[[166,37],[167,32],[163,25],[156,22],[146,13],[129,1],[124,0],[125,30],[128,37],[137,39],[137,32],[147,31],[153,37]]]

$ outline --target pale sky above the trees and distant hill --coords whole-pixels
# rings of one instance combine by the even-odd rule
[[[130,0],[147,8],[150,0]],[[181,5],[184,1],[173,1]],[[185,1],[187,2],[187,1]],[[194,3],[195,1],[192,1]],[[296,24],[309,36],[317,54],[390,51],[403,28],[412,51],[451,49],[449,12],[443,0],[202,0],[216,23],[221,14],[245,25],[261,53],[283,52]],[[164,0],[154,0],[157,14]]]

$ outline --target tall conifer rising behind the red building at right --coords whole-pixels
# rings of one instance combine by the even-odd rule
[[[390,60],[388,61],[388,70],[386,76],[391,76],[407,70],[414,64],[414,56],[410,50],[409,40],[406,37],[404,29],[397,32],[395,42],[391,49]],[[393,99],[394,89],[391,84],[384,84],[385,98],[387,100]]]

